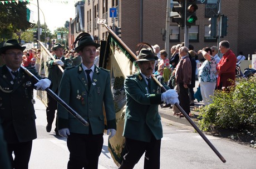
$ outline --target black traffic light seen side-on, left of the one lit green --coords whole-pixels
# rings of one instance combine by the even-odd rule
[[[172,11],[173,12],[178,12],[179,16],[178,17],[173,17],[171,19],[171,22],[176,22],[178,23],[179,27],[185,27],[185,0],[173,0],[177,1],[179,3],[179,6],[174,6]]]

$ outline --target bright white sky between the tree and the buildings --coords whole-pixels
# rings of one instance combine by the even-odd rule
[[[53,33],[58,27],[64,27],[66,21],[70,21],[70,18],[75,18],[75,0],[38,0],[39,3],[39,15],[40,24],[46,25]],[[29,0],[30,5],[28,9],[33,11],[33,18],[35,23],[38,21],[38,9],[37,0]],[[43,16],[45,16],[45,21]]]

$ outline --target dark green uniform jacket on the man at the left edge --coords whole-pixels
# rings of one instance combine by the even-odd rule
[[[42,79],[34,68],[28,69]],[[36,139],[33,87],[36,83],[19,69],[15,83],[6,65],[0,67],[0,120],[8,144]]]

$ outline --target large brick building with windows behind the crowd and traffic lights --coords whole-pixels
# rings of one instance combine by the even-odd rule
[[[176,3],[176,2],[174,2]],[[171,8],[174,4],[171,1]],[[208,25],[209,17],[218,13],[217,0],[208,0],[208,4],[198,4],[196,25],[189,29],[189,44],[194,45],[195,50],[203,47],[217,45],[216,38],[210,37]],[[221,1],[221,14],[228,17],[227,36],[220,38],[228,40],[230,48],[235,54],[240,51],[245,56],[253,54],[256,49],[256,34],[254,33],[256,22],[255,0],[223,0]],[[136,44],[147,42],[151,45],[158,44],[164,49],[165,41],[161,29],[166,23],[166,0],[150,1],[121,1],[121,0],[98,0],[85,1],[84,21],[85,27],[80,31],[88,32],[95,37],[95,40],[106,39],[107,29],[96,24],[96,17],[107,19],[107,25],[112,26],[110,8],[117,8],[115,25],[121,28],[121,39],[133,51],[136,51]],[[76,25],[74,25],[76,27]],[[74,29],[77,30],[77,29]],[[184,42],[184,29],[176,23],[170,22],[170,47]],[[76,32],[79,34],[80,32]]]

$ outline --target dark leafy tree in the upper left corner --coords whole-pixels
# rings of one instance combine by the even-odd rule
[[[0,5],[0,40],[15,38],[13,33],[26,30],[34,24],[27,21],[27,2]]]

